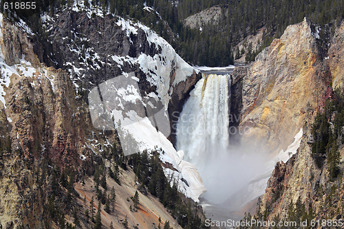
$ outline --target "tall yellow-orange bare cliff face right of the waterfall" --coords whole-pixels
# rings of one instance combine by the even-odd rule
[[[290,25],[248,68],[242,89],[243,142],[259,142],[277,152],[292,142],[309,109],[318,107],[330,85],[330,71],[316,28],[306,19]]]

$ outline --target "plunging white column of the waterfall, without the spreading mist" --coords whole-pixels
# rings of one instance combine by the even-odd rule
[[[226,166],[223,163],[228,159],[229,111],[230,75],[203,75],[191,91],[177,124],[177,149],[183,150],[185,160],[200,171],[208,193],[216,193],[219,199],[221,192],[226,195],[228,190],[216,181],[228,176],[219,168]]]

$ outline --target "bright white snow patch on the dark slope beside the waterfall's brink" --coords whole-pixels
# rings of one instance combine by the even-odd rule
[[[122,65],[129,63],[129,65],[136,65],[147,75],[147,81],[153,86],[157,87],[158,96],[162,99],[162,103],[167,108],[171,94],[172,87],[181,81],[186,80],[186,77],[191,76],[193,71],[198,72],[188,63],[186,63],[173,49],[173,47],[162,37],[158,36],[150,28],[141,23],[133,23],[132,21],[118,17],[118,26],[126,31],[127,36],[130,34],[138,34],[138,28],[144,31],[149,45],[155,45],[155,49],[160,50],[159,54],[149,56],[141,53],[137,58],[130,56],[111,56],[114,62],[122,69]],[[175,77],[170,83],[170,74],[175,70]]]

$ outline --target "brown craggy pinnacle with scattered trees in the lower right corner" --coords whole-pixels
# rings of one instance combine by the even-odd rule
[[[308,126],[310,128],[310,126]],[[268,180],[259,205],[265,219],[292,219],[291,210],[299,215],[294,220],[341,219],[343,215],[343,177],[330,179],[328,166],[318,168],[311,155],[310,131],[305,131],[298,153],[288,162],[279,162]],[[341,166],[343,168],[343,166]],[[295,211],[295,210],[294,210]],[[317,225],[315,228],[322,228]]]

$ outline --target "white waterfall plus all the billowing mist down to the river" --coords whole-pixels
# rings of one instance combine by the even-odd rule
[[[265,178],[259,177],[266,175],[271,155],[257,144],[229,143],[231,134],[241,138],[250,133],[230,127],[230,75],[202,76],[180,113],[176,148],[200,172],[205,203],[211,204],[205,205],[208,217],[229,219],[228,212],[261,195],[261,186],[265,189]]]

